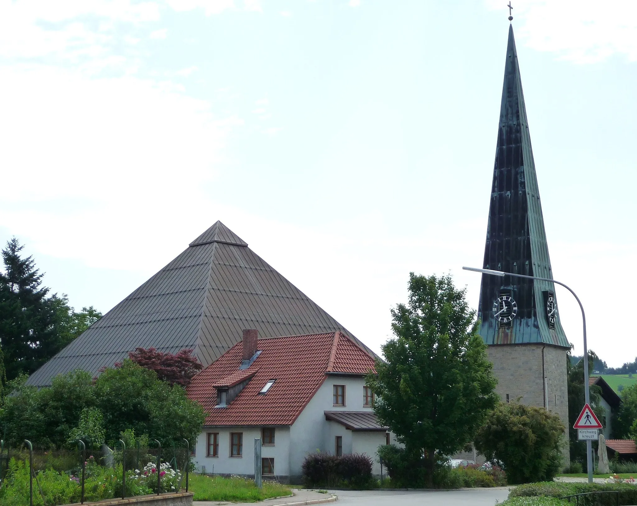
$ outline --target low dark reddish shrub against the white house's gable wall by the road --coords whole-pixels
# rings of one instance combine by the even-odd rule
[[[370,488],[372,461],[366,454],[334,456],[312,453],[303,461],[303,480],[307,486],[349,486]]]

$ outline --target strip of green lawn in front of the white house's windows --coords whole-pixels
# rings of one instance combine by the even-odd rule
[[[254,480],[245,478],[210,477],[191,474],[189,490],[194,492],[195,501],[257,502],[272,497],[292,495],[289,486],[272,481],[264,481],[259,490]]]

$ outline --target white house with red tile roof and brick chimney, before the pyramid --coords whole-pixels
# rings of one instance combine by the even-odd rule
[[[364,375],[375,357],[344,332],[243,339],[192,379],[188,396],[206,421],[193,457],[206,474],[252,476],[255,439],[262,474],[300,482],[307,454],[366,453],[390,439],[371,407]]]

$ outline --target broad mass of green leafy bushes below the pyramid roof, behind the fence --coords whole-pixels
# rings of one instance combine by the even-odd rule
[[[204,421],[203,408],[187,398],[181,386],[157,379],[154,371],[128,359],[95,381],[82,370],[56,376],[41,390],[25,385],[25,380],[20,376],[8,384],[12,393],[0,407],[0,429],[11,444],[29,439],[40,448],[64,447],[79,433],[95,438],[89,428],[101,425],[100,443],[114,444],[120,433],[132,429],[162,444],[182,446],[182,438],[196,440]],[[97,423],[96,411],[102,423]]]

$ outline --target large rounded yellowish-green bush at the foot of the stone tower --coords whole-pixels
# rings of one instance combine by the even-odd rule
[[[552,481],[562,464],[564,424],[546,409],[499,403],[475,438],[476,450],[496,460],[510,484]]]

